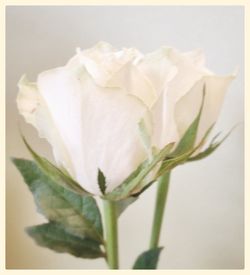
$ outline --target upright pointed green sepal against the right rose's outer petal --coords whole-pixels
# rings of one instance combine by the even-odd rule
[[[200,118],[201,118],[201,113],[202,113],[202,109],[204,106],[204,101],[205,101],[205,85],[203,88],[202,102],[201,102],[201,107],[200,107],[199,113],[196,116],[196,118],[194,119],[194,121],[191,123],[191,125],[188,127],[186,132],[184,133],[180,142],[178,143],[176,149],[173,152],[174,156],[184,154],[184,153],[190,151],[190,149],[194,147],[196,136],[197,136],[197,131],[198,131],[198,127],[199,127],[199,122],[200,122]]]

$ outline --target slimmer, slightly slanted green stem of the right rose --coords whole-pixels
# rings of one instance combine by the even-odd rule
[[[158,247],[161,226],[163,221],[164,209],[167,200],[170,172],[161,176],[157,182],[157,195],[155,202],[154,220],[151,231],[150,248]]]

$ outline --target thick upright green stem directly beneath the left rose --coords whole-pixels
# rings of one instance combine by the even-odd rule
[[[115,202],[104,200],[107,262],[110,269],[118,269],[118,233]]]

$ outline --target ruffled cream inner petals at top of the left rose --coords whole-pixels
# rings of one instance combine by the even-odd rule
[[[119,87],[151,107],[157,99],[156,91],[135,64],[142,56],[134,48],[117,51],[102,42],[91,49],[78,51],[67,66],[71,69],[84,67],[98,86]]]

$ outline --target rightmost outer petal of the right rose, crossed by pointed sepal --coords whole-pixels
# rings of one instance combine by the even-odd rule
[[[203,87],[205,85],[205,103],[201,115],[196,143],[198,143],[205,132],[216,122],[225,93],[234,75],[204,76],[177,102],[175,107],[175,121],[180,136],[184,134],[199,112],[202,100]]]

